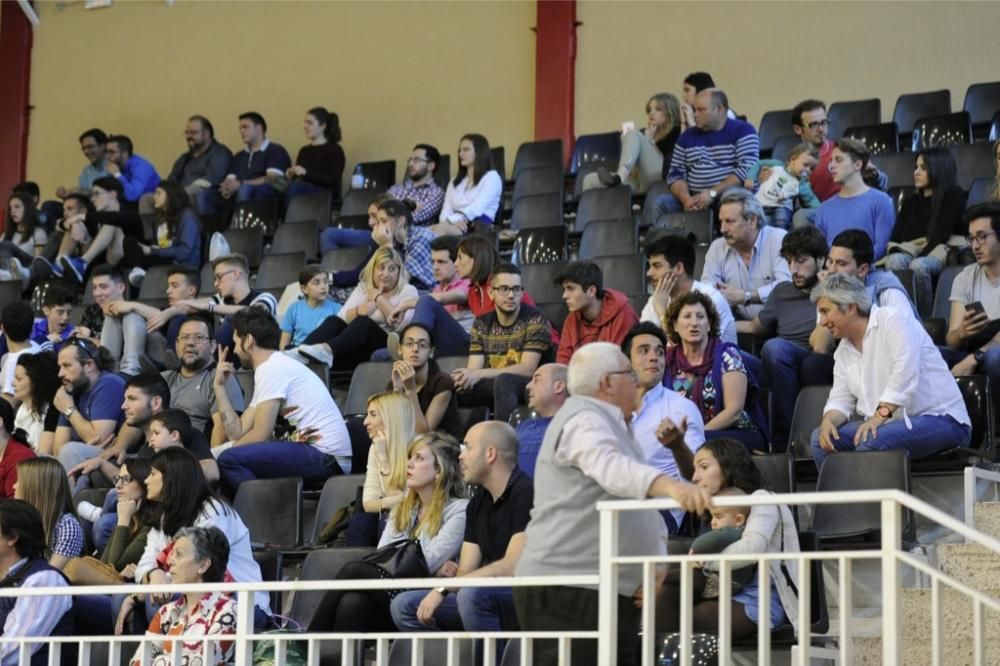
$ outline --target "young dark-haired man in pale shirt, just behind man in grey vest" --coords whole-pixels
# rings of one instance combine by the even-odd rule
[[[672,479],[690,480],[695,451],[705,443],[705,422],[697,405],[663,385],[666,347],[666,334],[651,322],[636,324],[622,342],[622,353],[639,378],[632,434],[650,466]],[[684,512],[662,515],[667,531],[677,534]]]

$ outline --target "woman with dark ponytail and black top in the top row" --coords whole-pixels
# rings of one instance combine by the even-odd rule
[[[291,201],[300,194],[329,190],[333,199],[339,201],[340,181],[347,161],[340,146],[340,118],[317,106],[306,111],[303,129],[309,143],[299,149],[295,164],[285,171],[289,181],[285,199]]]

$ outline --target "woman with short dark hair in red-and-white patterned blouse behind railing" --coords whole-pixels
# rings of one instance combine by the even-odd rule
[[[229,542],[226,535],[215,527],[185,527],[177,533],[174,547],[167,556],[171,583],[221,583],[229,561]],[[131,598],[131,597],[130,597]],[[127,616],[128,604],[122,606]],[[120,618],[116,633],[124,629],[125,618]],[[147,634],[171,636],[213,636],[236,633],[236,600],[226,592],[186,592],[177,600],[164,604],[153,617]],[[150,663],[168,666],[177,663],[173,652],[181,646],[180,663],[201,664],[205,646],[197,640],[175,643],[165,640],[152,644],[152,661],[146,662],[140,645],[132,657],[132,665]],[[230,664],[233,661],[233,641],[212,641],[209,651],[210,664]]]

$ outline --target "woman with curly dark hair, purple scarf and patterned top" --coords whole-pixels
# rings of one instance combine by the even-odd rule
[[[705,420],[705,439],[737,439],[763,450],[763,429],[752,412],[751,377],[736,345],[719,339],[719,314],[699,291],[675,298],[667,310],[663,384],[692,400]]]

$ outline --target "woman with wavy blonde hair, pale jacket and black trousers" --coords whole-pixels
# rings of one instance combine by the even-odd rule
[[[458,440],[442,432],[429,432],[410,444],[406,463],[406,495],[389,514],[379,548],[404,540],[420,544],[427,571],[452,577],[458,572],[459,550],[465,534],[465,484],[458,456]],[[384,578],[379,566],[351,562],[338,580]],[[327,593],[308,627],[313,631],[395,631],[389,613],[392,595],[386,590]]]

